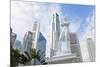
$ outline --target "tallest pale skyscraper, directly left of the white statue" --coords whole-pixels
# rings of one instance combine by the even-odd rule
[[[55,55],[58,50],[58,41],[60,36],[60,21],[59,15],[54,13],[52,16],[52,31],[51,31],[51,57]]]

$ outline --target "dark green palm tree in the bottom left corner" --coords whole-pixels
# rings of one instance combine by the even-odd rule
[[[27,52],[24,52],[24,54],[20,54],[18,49],[11,48],[11,66],[18,66],[19,63],[26,65],[31,60],[31,57]]]

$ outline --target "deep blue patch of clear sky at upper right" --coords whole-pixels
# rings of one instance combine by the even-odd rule
[[[89,24],[89,22],[86,22],[85,19],[88,16],[91,17],[93,15],[95,6],[93,6],[93,5],[75,5],[75,4],[66,5],[66,4],[62,4],[61,8],[62,8],[62,10],[61,10],[62,15],[67,17],[69,23],[74,23],[74,22],[71,22],[71,20],[76,20],[76,21],[81,20],[80,22],[77,22],[77,23],[80,23],[80,27],[77,30],[77,33],[80,33],[82,31],[84,31],[86,25]]]

